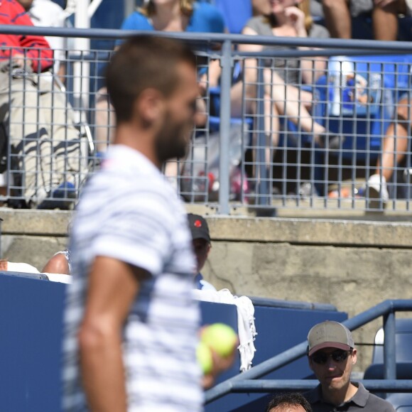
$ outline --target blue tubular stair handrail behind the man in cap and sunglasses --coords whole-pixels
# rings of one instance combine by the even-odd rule
[[[385,300],[365,310],[363,313],[342,322],[349,330],[355,330],[381,316],[384,318],[384,378],[383,380],[364,380],[362,383],[372,391],[403,392],[412,391],[412,380],[396,380],[396,342],[395,313],[412,310],[412,300]],[[206,392],[206,403],[215,401],[232,392],[261,392],[277,390],[309,390],[318,385],[318,381],[271,379],[260,380],[270,372],[290,364],[306,355],[308,343],[299,345],[267,359],[248,371],[218,384]]]

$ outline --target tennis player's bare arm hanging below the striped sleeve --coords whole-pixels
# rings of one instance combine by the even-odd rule
[[[116,259],[98,256],[78,335],[80,368],[93,412],[125,412],[126,386],[121,328],[146,272]]]

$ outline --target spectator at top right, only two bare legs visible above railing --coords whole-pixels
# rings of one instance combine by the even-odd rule
[[[374,38],[396,40],[398,15],[409,13],[405,0],[322,0],[326,27],[332,37],[352,37],[352,17],[372,12]]]

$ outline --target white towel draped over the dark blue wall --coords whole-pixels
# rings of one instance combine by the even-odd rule
[[[199,291],[194,290],[197,300],[215,303],[229,303],[237,307],[237,329],[239,333],[240,371],[244,372],[251,368],[254,358],[255,336],[257,335],[254,325],[254,305],[247,296],[234,296],[227,289],[221,291]]]

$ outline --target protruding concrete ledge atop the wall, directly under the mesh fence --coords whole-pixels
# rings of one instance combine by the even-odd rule
[[[65,237],[72,212],[0,208],[3,234]],[[215,241],[412,247],[412,222],[207,216]]]

